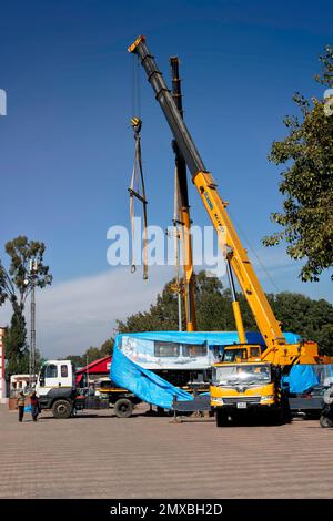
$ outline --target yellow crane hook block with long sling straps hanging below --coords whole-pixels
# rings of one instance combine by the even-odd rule
[[[132,118],[131,125],[134,131],[135,140],[135,155],[133,172],[131,178],[131,187],[128,188],[130,192],[130,216],[131,216],[131,237],[132,237],[132,247],[131,247],[131,273],[137,270],[135,265],[135,213],[134,213],[134,197],[137,197],[142,203],[143,212],[143,279],[148,279],[148,229],[147,229],[147,198],[144,190],[144,177],[142,168],[142,156],[141,156],[141,142],[140,142],[140,131],[142,127],[142,121],[140,118]],[[141,194],[140,194],[140,184],[141,184]]]

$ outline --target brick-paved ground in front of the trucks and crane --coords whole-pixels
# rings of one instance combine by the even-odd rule
[[[317,421],[24,419],[0,406],[0,498],[333,498],[333,429]]]

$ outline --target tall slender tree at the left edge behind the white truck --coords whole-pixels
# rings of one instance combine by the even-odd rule
[[[10,328],[4,337],[7,372],[27,371],[29,367],[29,350],[27,347],[27,328],[24,305],[32,285],[43,288],[51,284],[52,276],[49,267],[43,264],[46,245],[19,236],[9,241],[6,253],[10,257],[7,270],[0,262],[0,305],[9,300],[12,306]],[[30,276],[30,263],[33,265],[33,279]]]

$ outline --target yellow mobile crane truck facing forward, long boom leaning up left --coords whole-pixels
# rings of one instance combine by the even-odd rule
[[[145,38],[139,37],[128,49],[135,53],[147,72],[148,80],[165,115],[175,143],[192,175],[201,201],[222,244],[222,254],[231,286],[233,311],[239,334],[239,344],[225,348],[224,360],[213,367],[211,403],[216,408],[216,423],[228,419],[228,407],[240,409],[260,406],[283,415],[285,400],[280,387],[281,368],[294,364],[319,364],[317,345],[311,341],[287,344],[282,334],[266,296],[254,273],[248,253],[226,212],[228,203],[219,192],[218,184],[206,170],[191,134],[182,120],[174,99],[167,88],[163,75],[149,52]],[[239,303],[236,300],[233,274],[244,293],[265,348],[246,343]]]

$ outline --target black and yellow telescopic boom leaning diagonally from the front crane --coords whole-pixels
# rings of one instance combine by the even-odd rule
[[[315,364],[317,361],[316,344],[286,344],[280,323],[273,314],[246,251],[229,217],[226,212],[228,204],[219,195],[218,185],[196,150],[192,136],[164,82],[163,75],[154,61],[154,57],[148,50],[145,38],[139,37],[128,50],[140,58],[148,80],[155,92],[155,98],[190,170],[192,182],[208,211],[218,236],[223,235],[224,237],[225,244],[222,253],[239,280],[266,345],[262,359],[280,365],[300,361],[303,364]]]

